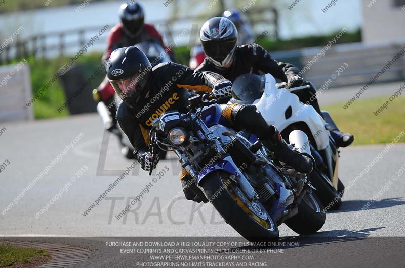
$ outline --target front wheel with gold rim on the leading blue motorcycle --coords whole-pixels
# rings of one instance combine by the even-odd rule
[[[274,241],[278,228],[259,201],[249,201],[231,174],[215,171],[201,182],[208,200],[225,222],[249,241]]]

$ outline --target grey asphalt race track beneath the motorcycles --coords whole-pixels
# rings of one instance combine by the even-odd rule
[[[392,84],[392,88],[397,85]],[[383,88],[383,85],[373,86],[370,91],[374,93],[370,95],[384,95]],[[352,96],[358,88],[345,90],[346,96]],[[324,93],[321,103],[331,103],[337,92]],[[114,136],[103,137],[96,114],[5,127],[7,130],[0,136],[0,163],[8,160],[10,164],[0,174],[0,236],[38,236],[23,240],[59,241],[94,249],[94,256],[98,257],[80,263],[83,267],[131,266],[134,255],[114,255],[104,246],[106,239],[101,237],[239,236],[211,205],[184,199],[178,177],[180,166],[173,154],[160,161],[156,169],[163,176],[156,172],[148,176],[136,165],[84,216],[86,209],[132,164],[119,154]],[[341,209],[328,213],[325,226],[315,236],[295,237],[297,234],[288,227],[280,226],[282,240],[299,241],[300,246],[274,255],[275,263],[316,266],[321,262],[311,256],[321,256],[323,261],[335,256],[330,266],[352,266],[356,260],[376,267],[404,266],[403,256],[399,256],[403,255],[405,236],[405,181],[399,175],[401,170],[405,171],[405,144],[394,143],[353,183],[384,148],[386,145],[341,149],[340,178],[346,186],[351,185]],[[43,176],[33,185],[31,182],[41,173]],[[140,196],[149,183],[148,192],[144,190]],[[136,196],[140,201],[118,220],[118,213]],[[370,202],[373,197],[375,201]],[[43,236],[54,238],[39,238]],[[290,252],[294,254],[287,255]],[[384,259],[370,258],[382,252],[387,254]],[[289,256],[293,260],[286,262]]]

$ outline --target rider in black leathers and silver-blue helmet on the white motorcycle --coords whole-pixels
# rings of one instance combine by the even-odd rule
[[[286,88],[298,87],[305,83],[297,67],[289,63],[277,62],[260,45],[253,43],[237,46],[236,27],[226,18],[215,17],[205,22],[200,31],[200,40],[207,57],[196,68],[196,72],[215,72],[231,82],[242,74],[270,73],[275,78],[286,82]],[[315,96],[316,89],[312,85],[308,91],[302,90],[296,94],[301,102],[312,105],[322,116]],[[235,94],[233,97],[238,99]],[[240,105],[229,104],[228,109],[238,110]],[[349,146],[354,139],[352,134],[342,133],[338,129],[331,131],[331,136],[338,147]]]

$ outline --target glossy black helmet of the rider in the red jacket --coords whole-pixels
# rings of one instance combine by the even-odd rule
[[[144,25],[145,13],[137,2],[129,1],[119,7],[119,18],[124,31],[131,37],[137,36]]]

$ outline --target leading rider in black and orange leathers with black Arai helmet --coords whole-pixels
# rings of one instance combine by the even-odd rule
[[[135,46],[114,50],[106,72],[123,100],[116,114],[118,124],[134,146],[135,158],[146,171],[154,169],[159,160],[154,157],[152,161],[147,147],[154,119],[165,111],[187,112],[187,99],[191,96],[188,90],[211,92],[216,99],[229,97],[232,91],[229,80],[212,72],[194,72],[184,65],[170,62],[152,68],[145,54]],[[225,112],[229,123],[236,130],[247,129],[256,134],[280,161],[298,172],[311,172],[312,159],[290,149],[275,127],[268,125],[253,107],[244,105],[237,112]]]

